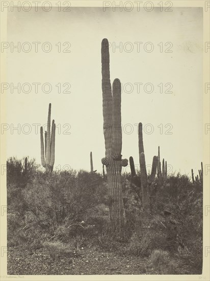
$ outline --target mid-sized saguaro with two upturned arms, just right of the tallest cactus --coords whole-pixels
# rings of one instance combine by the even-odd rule
[[[146,162],[145,162],[145,155],[144,155],[142,123],[139,123],[139,162],[140,162],[140,175],[141,175],[140,178],[136,175],[133,157],[129,158],[133,182],[137,186],[139,186],[139,187],[141,186],[142,207],[146,212],[148,212],[148,210],[150,209],[150,185],[153,182],[155,175],[156,175],[156,170],[157,170],[157,166],[158,166],[158,157],[157,156],[153,157],[151,175],[149,176],[149,178],[147,178]]]

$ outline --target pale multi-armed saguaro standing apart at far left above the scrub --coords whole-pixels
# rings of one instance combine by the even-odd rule
[[[43,128],[40,128],[41,138],[41,163],[45,168],[46,173],[51,173],[55,162],[55,136],[56,136],[56,124],[52,120],[52,132],[50,134],[50,115],[51,115],[51,103],[48,109],[47,118],[47,131],[45,131],[45,147],[43,139]]]

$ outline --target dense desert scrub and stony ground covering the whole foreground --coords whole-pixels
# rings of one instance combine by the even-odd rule
[[[45,268],[44,256],[54,264],[73,261],[68,266],[72,271],[63,269],[64,274],[76,274],[76,263],[84,261],[80,265],[84,272],[87,264],[90,267],[90,256],[100,259],[101,252],[110,256],[110,262],[113,254],[115,261],[120,261],[120,268],[110,274],[201,274],[201,183],[193,184],[180,174],[161,183],[155,178],[152,186],[156,192],[147,214],[140,200],[141,188],[134,186],[129,174],[122,174],[125,224],[116,232],[110,225],[107,183],[102,174],[74,170],[46,174],[28,157],[25,175],[24,161],[10,158],[7,162],[8,274],[29,274],[24,266],[27,254],[36,268],[32,258],[38,252],[43,263],[33,274],[39,274],[40,266],[42,274],[55,274],[51,267]],[[22,267],[16,267],[20,253]],[[127,260],[134,265],[127,267]],[[109,268],[108,261],[103,257]],[[88,272],[104,274],[106,267],[94,264]]]

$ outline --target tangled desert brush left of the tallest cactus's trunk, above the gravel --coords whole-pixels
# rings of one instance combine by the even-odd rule
[[[46,174],[29,170],[26,179],[22,174],[23,160],[11,158],[8,166],[14,165],[19,165],[20,175],[19,170],[17,174],[8,173],[7,180],[11,245],[18,245],[19,241],[35,247],[43,241],[68,242],[76,237],[78,240],[78,236],[90,237],[94,232],[91,224],[102,228],[104,220],[97,214],[97,206],[106,200],[106,186],[100,174],[74,170]]]

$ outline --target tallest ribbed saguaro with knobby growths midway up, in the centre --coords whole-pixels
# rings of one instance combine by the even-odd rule
[[[107,180],[110,191],[110,220],[113,229],[123,225],[123,200],[121,169],[127,166],[128,160],[122,159],[122,129],[121,129],[121,83],[115,79],[110,82],[109,42],[101,42],[102,64],[102,97],[103,97],[103,134],[105,140],[105,155],[101,159],[106,165]]]

